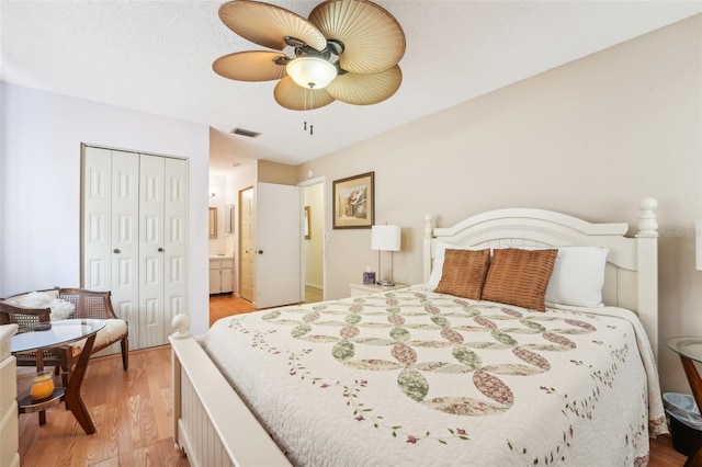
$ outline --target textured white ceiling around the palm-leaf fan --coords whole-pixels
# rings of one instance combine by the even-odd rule
[[[700,0],[377,1],[407,37],[400,89],[380,104],[305,113],[275,103],[275,81],[212,71],[219,56],[262,49],[219,21],[220,3],[1,0],[0,80],[261,133],[224,136],[236,149],[214,145],[213,170],[258,158],[297,164],[702,12]],[[306,18],[318,2],[270,3]]]

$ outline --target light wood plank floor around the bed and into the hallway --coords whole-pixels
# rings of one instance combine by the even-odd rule
[[[211,321],[253,310],[251,304],[231,295],[213,296],[210,304]],[[26,390],[30,377],[20,376],[20,390]],[[178,455],[171,437],[170,346],[131,352],[127,372],[118,355],[93,358],[82,395],[97,432],[87,435],[61,406],[46,412],[43,426],[37,414],[22,414],[22,466],[190,465]],[[650,467],[679,467],[684,460],[669,437],[652,442]]]

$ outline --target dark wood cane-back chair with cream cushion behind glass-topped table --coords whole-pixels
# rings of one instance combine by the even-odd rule
[[[95,342],[91,354],[120,342],[122,350],[122,366],[126,371],[129,367],[129,332],[126,321],[120,319],[112,308],[110,292],[95,292],[84,288],[55,288],[53,291],[58,294],[58,298],[70,301],[76,309],[70,318],[76,319],[104,319],[106,326],[100,330],[95,337]],[[9,300],[16,298],[18,295],[10,297]],[[20,326],[36,326],[39,322],[48,321],[50,309],[27,308],[8,301],[0,301],[0,323],[2,320],[8,322],[16,322]],[[78,362],[80,352],[82,351],[83,341],[75,342],[60,348],[45,349],[43,353],[44,365],[55,366],[63,371],[64,385],[68,384],[73,366]],[[19,366],[35,366],[36,357],[34,352],[27,354],[18,354],[16,363]]]

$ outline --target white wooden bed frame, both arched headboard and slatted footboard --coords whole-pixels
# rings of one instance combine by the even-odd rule
[[[624,237],[626,223],[590,224],[541,209],[500,209],[469,217],[450,228],[434,228],[424,219],[424,282],[429,278],[435,242],[475,247],[597,246],[609,248],[603,287],[605,305],[638,314],[657,355],[658,348],[658,225],[657,202],[645,198],[638,232]],[[229,383],[189,331],[190,319],[179,315],[169,339],[172,348],[173,440],[191,466],[288,466],[290,462],[259,424]]]

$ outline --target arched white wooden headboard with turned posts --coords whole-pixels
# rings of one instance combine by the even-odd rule
[[[605,305],[636,311],[658,355],[658,203],[646,197],[639,204],[638,232],[625,237],[626,223],[591,224],[543,209],[498,209],[468,217],[453,227],[434,228],[424,218],[423,277],[431,273],[437,241],[471,247],[593,246],[608,248],[602,298]]]

